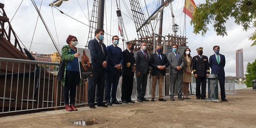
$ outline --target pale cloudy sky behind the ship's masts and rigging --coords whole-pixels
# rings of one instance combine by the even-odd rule
[[[32,4],[31,0],[23,0],[23,3],[20,5],[22,0],[0,0],[0,3],[5,4],[5,12],[9,17],[9,20],[12,18],[12,27],[15,30],[17,36],[22,41],[21,44],[23,47],[30,49],[31,52],[52,54],[57,50],[53,46],[51,39],[42,24],[41,19],[38,19],[38,24],[36,26],[36,21],[38,14],[35,10],[35,7]],[[61,14],[57,9],[49,6],[49,3],[54,0],[43,0],[41,6],[41,0],[35,0],[38,8],[41,6],[41,15],[43,16],[55,42],[59,45],[59,49],[63,45],[66,45],[66,39],[69,34],[76,36],[79,40],[77,47],[84,48],[84,45],[87,43],[89,27],[84,25],[89,25],[88,18],[91,18],[93,0],[69,0],[64,1],[60,7],[57,7],[65,14],[73,17],[82,23],[68,17],[67,15]],[[105,0],[106,2],[106,15],[105,19],[105,33],[111,35],[120,35],[118,31],[118,18],[116,16],[116,0]],[[128,40],[133,40],[137,38],[137,32],[135,29],[134,22],[131,20],[131,6],[129,0],[117,0],[120,1],[120,10],[122,13],[122,18],[124,19],[125,29],[128,35]],[[125,8],[128,7],[128,11]],[[205,0],[194,0],[195,4],[198,5],[199,2],[204,3]],[[151,15],[152,12],[157,8],[157,0],[146,0],[148,13]],[[111,4],[112,3],[112,4]],[[141,0],[141,6],[143,6],[144,12],[145,9],[144,0]],[[80,8],[80,6],[81,8]],[[20,8],[18,9],[20,5]],[[119,3],[118,3],[119,5]],[[184,13],[182,13],[184,5],[184,0],[174,0],[172,2],[172,9],[175,15],[175,23],[180,26],[180,31],[177,32],[177,35],[186,35],[188,38],[187,46],[192,50],[191,55],[195,56],[196,48],[204,47],[204,55],[208,57],[214,52],[212,47],[214,45],[220,46],[220,53],[226,56],[226,76],[236,76],[236,50],[243,49],[244,54],[244,73],[246,73],[247,63],[252,63],[255,57],[255,47],[250,47],[253,41],[249,41],[248,37],[252,32],[255,31],[255,28],[248,30],[247,32],[243,31],[241,26],[237,26],[234,23],[234,19],[226,23],[227,34],[228,36],[217,36],[214,32],[212,25],[209,25],[209,31],[207,34],[202,37],[201,34],[195,35],[192,33],[193,27],[190,25],[190,17],[186,16],[186,33],[184,34]],[[87,8],[89,7],[89,8]],[[163,22],[163,35],[168,35],[168,33],[173,34],[172,32],[172,16],[171,16],[171,6],[168,6],[164,9],[164,22]],[[18,9],[18,10],[17,10]],[[15,12],[17,13],[15,14]],[[0,11],[2,12],[2,10]],[[89,12],[89,15],[88,15]],[[111,13],[112,12],[112,13]],[[14,16],[15,15],[15,16]],[[148,18],[148,14],[145,14],[145,17]],[[53,20],[54,18],[54,20]],[[55,21],[55,22],[54,22]],[[151,21],[154,24],[157,21]],[[83,24],[84,23],[84,24]],[[54,26],[55,24],[55,26]],[[35,29],[36,26],[36,29]],[[55,31],[56,28],[56,31]],[[108,29],[107,29],[108,28]],[[35,30],[34,38],[33,33]],[[156,26],[156,32],[158,33],[158,26]],[[56,34],[57,32],[57,34]],[[58,38],[57,38],[58,36]],[[33,38],[33,40],[32,40]],[[121,38],[121,37],[120,37]],[[14,38],[12,38],[14,39]],[[32,42],[32,44],[31,44]],[[105,36],[105,44],[110,44],[110,37]],[[31,45],[31,47],[30,47]],[[119,47],[122,47],[122,42],[119,43]]]

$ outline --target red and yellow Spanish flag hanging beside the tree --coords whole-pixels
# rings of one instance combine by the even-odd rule
[[[191,19],[193,19],[193,13],[195,12],[196,5],[193,0],[185,0],[185,4],[183,7],[183,12],[188,15]]]

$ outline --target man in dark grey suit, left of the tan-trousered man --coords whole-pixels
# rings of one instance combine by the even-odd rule
[[[149,55],[148,52],[146,52],[147,49],[147,43],[141,42],[140,43],[140,50],[137,51],[136,55],[136,80],[137,80],[137,101],[143,102],[143,101],[149,101],[148,99],[145,99],[145,93],[146,93],[146,87],[147,87],[147,81],[148,81],[148,73],[149,73]]]

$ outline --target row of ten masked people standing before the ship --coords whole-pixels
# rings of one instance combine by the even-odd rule
[[[202,55],[202,47],[197,49],[198,55],[193,58],[190,56],[190,49],[184,50],[183,54],[178,51],[178,46],[172,46],[172,52],[166,56],[162,53],[161,45],[155,47],[155,53],[149,55],[146,51],[147,43],[140,43],[140,50],[136,52],[134,57],[133,49],[134,42],[127,42],[127,49],[122,51],[117,45],[119,44],[119,37],[113,36],[112,44],[108,47],[102,43],[104,38],[104,30],[96,29],[95,39],[90,40],[88,49],[90,49],[91,63],[93,66],[92,77],[88,78],[87,98],[88,106],[96,108],[94,105],[95,99],[97,106],[108,107],[112,104],[128,104],[134,103],[131,100],[131,94],[134,83],[134,73],[136,74],[137,82],[137,101],[149,101],[145,98],[146,86],[148,82],[149,66],[151,70],[151,101],[155,101],[155,90],[158,81],[159,98],[158,101],[165,102],[163,99],[163,78],[166,75],[166,68],[170,65],[170,87],[169,96],[171,101],[174,99],[175,83],[177,81],[177,96],[179,100],[190,99],[188,97],[189,83],[192,78],[192,71],[196,78],[196,99],[206,98],[206,77],[209,75],[209,67],[212,68],[212,73],[219,76],[221,86],[221,99],[225,99],[224,89],[224,66],[225,57],[218,53],[219,47],[213,47],[215,55],[211,56],[209,61],[207,56]],[[69,35],[67,44],[61,49],[62,61],[67,61],[64,78],[62,84],[64,85],[64,103],[67,111],[77,111],[74,107],[74,99],[76,95],[76,85],[81,86],[81,79],[79,76],[78,58],[80,53],[76,50],[78,44],[77,38]],[[121,68],[122,67],[122,68]],[[122,72],[121,72],[122,70]],[[119,76],[122,73],[122,102],[116,99],[116,90],[119,83]],[[106,80],[106,88],[105,88]],[[202,91],[200,90],[202,87]],[[104,90],[105,93],[104,93]],[[70,93],[69,93],[70,91]],[[95,97],[96,94],[96,97]],[[106,104],[104,101],[104,94],[106,94]],[[182,97],[183,94],[183,97]]]

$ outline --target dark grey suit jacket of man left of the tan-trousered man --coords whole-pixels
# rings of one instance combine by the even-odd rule
[[[147,58],[145,58],[144,53],[139,50],[137,51],[137,55],[136,55],[136,73],[149,73],[149,65],[148,65],[148,61],[149,61],[149,55],[148,52],[145,52]]]

